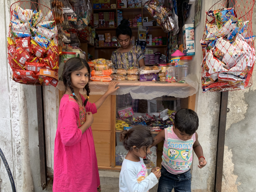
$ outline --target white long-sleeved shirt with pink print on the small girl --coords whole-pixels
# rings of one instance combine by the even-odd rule
[[[147,169],[140,158],[140,162],[124,159],[120,177],[119,192],[147,192],[158,183],[156,176]]]

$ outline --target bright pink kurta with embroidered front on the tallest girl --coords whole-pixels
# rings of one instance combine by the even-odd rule
[[[54,146],[53,192],[100,191],[92,129],[83,134],[78,129],[85,122],[86,111],[96,113],[96,105],[87,102],[84,108],[73,96],[63,95]]]

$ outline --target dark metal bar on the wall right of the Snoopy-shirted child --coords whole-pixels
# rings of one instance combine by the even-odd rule
[[[227,109],[228,109],[228,91],[225,91],[220,93],[220,112],[219,112],[219,127],[218,127],[215,184],[214,184],[215,192],[221,192]]]

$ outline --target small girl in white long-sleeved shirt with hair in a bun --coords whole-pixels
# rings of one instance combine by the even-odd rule
[[[161,177],[159,167],[147,169],[143,157],[150,152],[153,136],[145,126],[137,125],[121,132],[120,141],[128,150],[124,158],[120,177],[119,192],[147,192],[158,183]]]

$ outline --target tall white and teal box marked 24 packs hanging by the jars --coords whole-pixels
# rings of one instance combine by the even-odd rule
[[[183,26],[183,47],[186,55],[195,55],[195,34],[194,24],[185,24]]]

